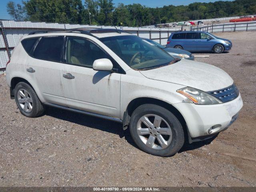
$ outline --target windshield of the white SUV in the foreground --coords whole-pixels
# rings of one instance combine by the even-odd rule
[[[136,70],[148,70],[177,62],[164,50],[138,36],[125,35],[100,38],[128,66]]]

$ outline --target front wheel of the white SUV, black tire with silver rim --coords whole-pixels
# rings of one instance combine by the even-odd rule
[[[184,144],[184,132],[179,120],[172,112],[155,104],[143,104],[134,110],[130,119],[130,134],[141,150],[156,156],[172,156]],[[164,142],[160,144],[163,138]]]

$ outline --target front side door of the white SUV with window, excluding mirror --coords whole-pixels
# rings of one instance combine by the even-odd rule
[[[91,40],[68,37],[62,82],[68,107],[120,118],[119,73],[95,71],[94,60],[109,56]]]

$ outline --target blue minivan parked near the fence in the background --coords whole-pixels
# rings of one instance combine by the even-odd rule
[[[182,31],[172,33],[167,40],[166,47],[184,49],[190,52],[213,51],[222,53],[231,49],[232,42],[208,32]]]

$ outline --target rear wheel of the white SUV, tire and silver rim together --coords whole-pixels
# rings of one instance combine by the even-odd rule
[[[44,106],[29,84],[19,82],[14,88],[14,97],[20,112],[24,116],[38,117],[44,113]]]

